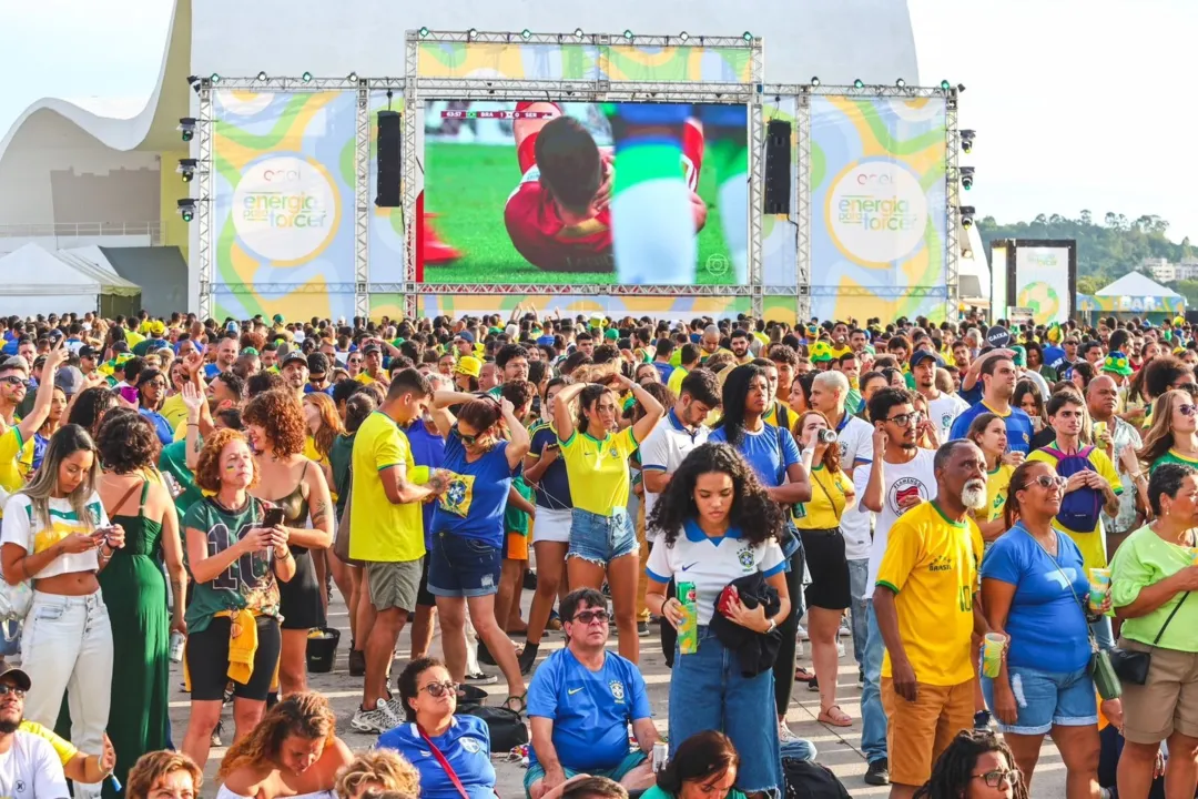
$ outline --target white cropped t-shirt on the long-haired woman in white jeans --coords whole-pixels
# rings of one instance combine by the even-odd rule
[[[99,494],[92,492],[84,504],[84,512],[91,517],[91,527],[79,519],[68,500],[50,500],[50,527],[43,527],[42,521],[34,519],[32,500],[24,494],[14,494],[4,507],[4,527],[0,528],[0,543],[16,544],[29,555],[44,552],[72,533],[89,534],[97,527],[108,525],[108,514],[99,501]],[[60,555],[50,564],[38,571],[35,577],[53,577],[75,571],[96,571],[99,569],[98,550],[87,550],[74,555]],[[2,794],[0,794],[2,795]]]

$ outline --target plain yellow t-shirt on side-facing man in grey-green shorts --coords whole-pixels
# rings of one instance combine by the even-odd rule
[[[424,556],[424,520],[419,502],[394,504],[379,473],[398,466],[406,474],[416,464],[407,436],[386,413],[375,411],[353,440],[350,492],[350,556],[394,563]]]

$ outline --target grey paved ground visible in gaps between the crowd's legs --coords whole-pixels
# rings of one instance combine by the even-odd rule
[[[525,592],[524,598],[526,611],[531,597],[531,592]],[[335,601],[331,607],[329,616],[332,625],[341,629],[341,647],[338,650],[337,666],[332,673],[311,674],[309,677],[309,684],[314,690],[323,692],[325,696],[327,696],[333,703],[338,714],[338,733],[341,738],[355,750],[367,749],[374,744],[374,737],[362,736],[353,732],[349,724],[350,716],[353,714],[353,708],[358,702],[361,702],[362,680],[359,678],[350,677],[346,671],[346,650],[350,637],[349,617],[339,595],[335,595]],[[665,667],[665,661],[661,658],[660,647],[658,646],[655,637],[642,638],[641,641],[641,671],[643,672],[645,680],[649,688],[653,713],[659,720],[658,726],[661,730],[665,730],[667,718],[666,706],[670,692],[670,671]],[[805,684],[795,685],[787,720],[795,733],[815,743],[819,751],[817,757],[818,762],[835,771],[836,775],[843,780],[853,797],[887,797],[889,794],[888,788],[867,786],[861,781],[861,776],[865,774],[865,761],[859,750],[861,728],[859,724],[860,706],[857,698],[860,694],[857,684],[857,662],[853,660],[852,643],[849,638],[846,637],[842,638],[842,641],[845,641],[849,650],[840,661],[839,698],[841,700],[841,707],[845,712],[853,716],[854,725],[846,728],[835,728],[827,727],[817,722],[816,716],[819,713],[818,695],[809,691]],[[613,638],[611,643],[613,649],[615,643]],[[440,654],[440,635],[434,640],[432,646],[435,654]],[[550,652],[561,647],[561,634],[550,632],[541,642],[540,653],[545,656]],[[404,653],[404,656],[397,658],[395,666],[392,670],[393,674],[399,674],[407,660],[406,653],[409,652],[410,646],[406,631],[405,635],[400,637],[400,646],[398,649]],[[800,658],[800,662],[810,667],[809,658]],[[496,670],[491,668],[490,671],[494,672]],[[173,676],[175,694],[173,696],[170,710],[176,744],[181,743],[183,739],[183,731],[187,727],[188,718],[188,697],[179,688],[181,682],[182,677],[181,674],[177,674],[176,667],[176,674]],[[504,689],[502,685],[490,685],[486,688],[496,695],[495,703],[503,700]],[[225,730],[228,731],[225,743],[229,743],[232,737],[232,719],[228,707],[225,708],[224,719]],[[1060,762],[1060,756],[1057,753],[1057,750],[1051,743],[1046,743],[1045,750],[1046,751],[1041,755],[1040,764],[1036,769],[1036,781],[1033,785],[1033,795],[1063,797],[1065,795],[1065,769]],[[216,795],[216,786],[211,782],[211,780],[217,771],[220,758],[224,756],[224,749],[212,750],[212,755],[205,768],[205,779],[208,780],[208,782],[204,786],[202,795],[205,797]],[[504,758],[496,757],[495,768],[498,774],[497,789],[500,795],[506,797],[507,799],[522,795],[524,769],[520,764],[506,762]]]

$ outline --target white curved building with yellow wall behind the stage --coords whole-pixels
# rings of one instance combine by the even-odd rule
[[[49,249],[101,244],[123,277],[143,285],[182,278],[194,229],[176,214],[188,186],[175,172],[187,157],[176,129],[193,115],[187,77],[400,77],[404,34],[435,30],[739,35],[764,38],[769,83],[919,83],[906,0],[605,0],[568,6],[532,0],[175,0],[158,80],[140,110],[44,98],[0,139],[0,255],[30,241]],[[194,156],[194,153],[192,153]],[[120,248],[139,250],[122,258]],[[128,262],[126,262],[128,261]],[[158,267],[156,267],[156,264]],[[137,271],[137,274],[125,271]],[[196,296],[189,270],[188,296]],[[177,296],[177,295],[176,295]]]

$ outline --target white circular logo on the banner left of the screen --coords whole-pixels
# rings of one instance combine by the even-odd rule
[[[337,232],[337,190],[319,165],[295,156],[246,168],[232,194],[232,218],[246,247],[271,261],[300,261]]]

